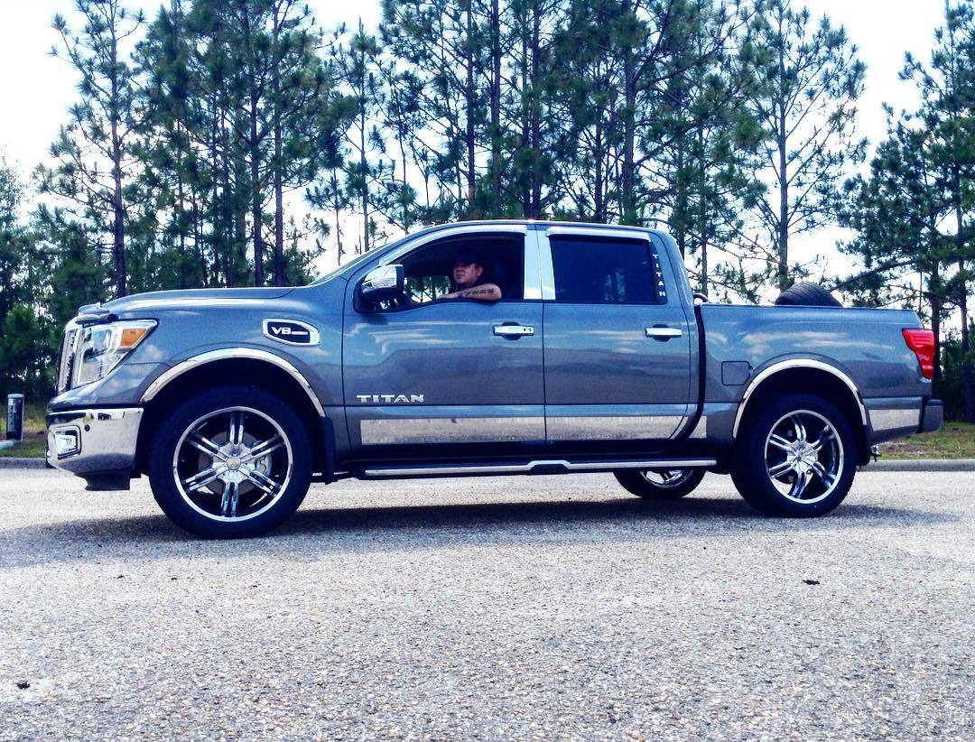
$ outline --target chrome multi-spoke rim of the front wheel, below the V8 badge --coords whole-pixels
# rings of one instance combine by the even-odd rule
[[[292,445],[264,412],[215,410],[194,420],[176,444],[173,477],[183,500],[215,521],[246,521],[281,499],[292,476]]]

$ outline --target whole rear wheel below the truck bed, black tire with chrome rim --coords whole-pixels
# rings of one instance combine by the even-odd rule
[[[846,497],[856,462],[846,416],[820,397],[792,394],[764,405],[746,423],[736,442],[731,479],[762,513],[815,518]]]

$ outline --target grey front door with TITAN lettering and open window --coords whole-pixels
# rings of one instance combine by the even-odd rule
[[[390,260],[408,296],[344,318],[344,400],[357,458],[469,460],[544,446],[542,305],[537,246],[524,225],[458,226]],[[476,254],[500,301],[442,299],[459,254]],[[527,263],[527,269],[526,269]]]

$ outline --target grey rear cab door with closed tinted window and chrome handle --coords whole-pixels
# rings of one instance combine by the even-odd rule
[[[569,227],[540,232],[538,242],[543,275],[551,271],[543,286],[554,285],[555,299],[543,319],[549,444],[661,449],[696,399],[692,315],[664,246],[636,230]]]

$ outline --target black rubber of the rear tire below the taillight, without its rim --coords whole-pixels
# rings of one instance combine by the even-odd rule
[[[765,468],[765,441],[775,425],[789,412],[809,410],[821,414],[837,431],[843,447],[843,464],[836,488],[818,502],[791,500],[772,484]],[[741,495],[759,510],[790,518],[815,518],[834,510],[846,497],[856,475],[857,450],[853,428],[846,416],[821,397],[791,394],[765,405],[748,423],[738,441],[732,479]]]

